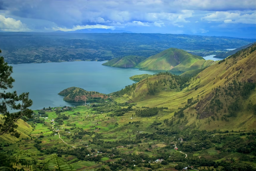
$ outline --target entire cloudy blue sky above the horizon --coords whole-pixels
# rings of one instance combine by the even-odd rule
[[[1,32],[85,28],[256,38],[256,0],[0,0]]]

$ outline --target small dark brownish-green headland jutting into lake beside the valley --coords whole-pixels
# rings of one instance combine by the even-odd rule
[[[63,100],[65,101],[73,101],[73,102],[80,102],[86,100],[99,100],[99,99],[106,99],[108,96],[106,94],[102,94],[95,91],[86,91],[82,88],[78,87],[70,87],[62,90],[58,93],[59,95],[65,96]]]

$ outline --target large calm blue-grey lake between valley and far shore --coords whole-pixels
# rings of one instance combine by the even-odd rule
[[[30,63],[13,66],[15,79],[13,90],[18,94],[30,92],[32,110],[44,107],[75,106],[65,102],[58,93],[65,88],[77,86],[87,91],[111,93],[135,83],[133,75],[155,74],[157,71],[140,71],[134,68],[103,66],[102,62],[76,61],[62,63]],[[81,103],[80,103],[81,104]]]

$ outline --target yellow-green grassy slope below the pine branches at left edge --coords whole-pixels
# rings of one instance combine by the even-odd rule
[[[0,124],[2,124],[1,115],[0,115]],[[18,121],[18,128],[16,128],[15,130],[17,130],[17,132],[20,133],[19,138],[10,136],[10,134],[3,134],[2,136],[0,136],[0,142],[15,143],[19,140],[30,138],[29,135],[32,132],[32,127],[27,122],[24,122],[24,120],[20,119]]]

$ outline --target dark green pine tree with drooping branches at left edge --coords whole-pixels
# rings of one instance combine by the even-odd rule
[[[10,134],[19,138],[20,134],[15,130],[18,127],[17,122],[21,118],[32,118],[33,111],[28,109],[32,105],[32,100],[28,98],[28,92],[19,96],[16,91],[8,92],[15,81],[11,77],[12,73],[12,66],[4,62],[4,57],[0,57],[0,114],[3,120],[0,124],[0,136]],[[8,109],[14,109],[17,112],[10,113]]]

